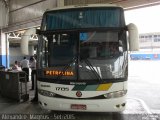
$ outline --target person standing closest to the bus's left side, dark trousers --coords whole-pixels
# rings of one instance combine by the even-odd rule
[[[31,68],[31,81],[32,81],[32,88],[31,90],[35,89],[35,80],[36,80],[36,59],[32,56],[30,58],[30,68]]]

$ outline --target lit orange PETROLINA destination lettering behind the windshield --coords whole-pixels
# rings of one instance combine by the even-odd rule
[[[72,71],[59,71],[59,70],[46,70],[45,75],[50,75],[50,76],[73,76],[74,73]]]

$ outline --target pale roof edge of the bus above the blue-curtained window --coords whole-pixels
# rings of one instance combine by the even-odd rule
[[[63,10],[63,9],[76,9],[76,8],[91,8],[91,7],[119,7],[122,8],[119,5],[116,4],[84,4],[84,5],[72,5],[72,6],[64,6],[64,7],[57,7],[53,9],[47,9],[46,12],[54,11],[54,10]]]

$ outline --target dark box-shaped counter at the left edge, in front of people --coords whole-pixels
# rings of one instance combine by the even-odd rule
[[[26,74],[23,71],[3,71],[0,70],[1,96],[16,101],[27,101]]]

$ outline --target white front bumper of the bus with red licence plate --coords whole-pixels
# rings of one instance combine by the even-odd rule
[[[121,112],[126,107],[126,96],[112,99],[62,99],[38,95],[43,109],[83,112]]]

